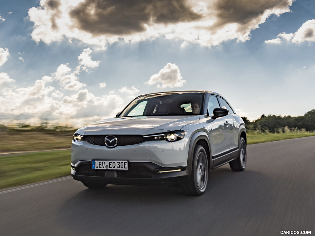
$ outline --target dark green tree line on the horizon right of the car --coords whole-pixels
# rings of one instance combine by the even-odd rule
[[[247,117],[242,117],[246,129],[261,132],[285,132],[285,128],[293,130],[315,131],[315,109],[303,116],[261,115],[255,121],[250,122]]]

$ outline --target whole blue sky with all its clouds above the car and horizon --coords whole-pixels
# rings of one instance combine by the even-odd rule
[[[0,124],[80,127],[179,90],[251,121],[315,109],[315,1],[0,2]]]

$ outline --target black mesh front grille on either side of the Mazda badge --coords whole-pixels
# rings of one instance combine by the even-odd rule
[[[105,137],[108,135],[86,135],[84,140],[99,146],[106,146]],[[133,145],[153,140],[152,137],[143,137],[141,135],[115,135],[117,138],[117,146]]]

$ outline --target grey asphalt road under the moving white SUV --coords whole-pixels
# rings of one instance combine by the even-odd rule
[[[166,186],[91,190],[71,177],[1,190],[0,234],[315,234],[315,136],[247,151],[245,171],[211,171],[199,197]]]

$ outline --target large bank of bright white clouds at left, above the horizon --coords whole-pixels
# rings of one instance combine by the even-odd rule
[[[87,89],[81,89],[85,84],[80,83],[72,71],[69,64],[61,64],[51,76],[43,76],[28,87],[16,87],[14,79],[7,73],[0,73],[0,114],[6,117],[1,122],[40,124],[44,118],[53,124],[81,126],[104,117],[114,117],[122,110],[124,100],[120,95],[95,96]],[[49,86],[54,81],[58,82],[56,87]],[[101,84],[105,86],[105,83]],[[128,94],[138,91],[135,86],[122,89]]]

